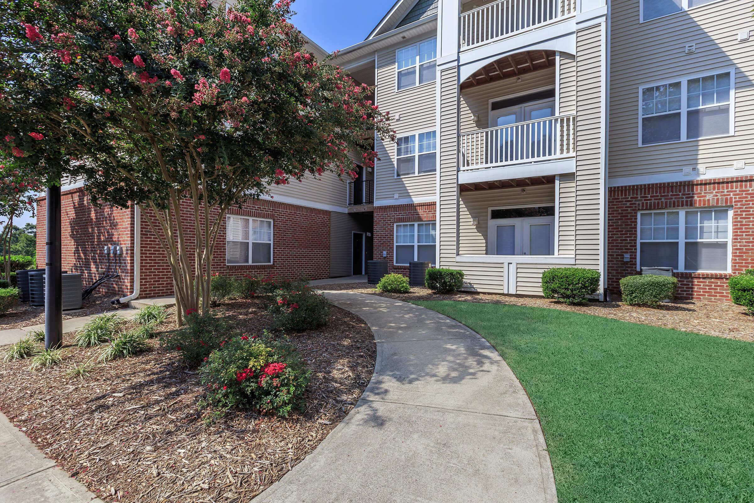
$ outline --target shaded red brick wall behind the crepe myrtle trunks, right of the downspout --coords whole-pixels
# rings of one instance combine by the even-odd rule
[[[191,215],[189,201],[182,212]],[[273,221],[272,265],[226,265],[225,225],[222,225],[212,260],[213,272],[229,276],[267,276],[280,278],[329,278],[329,211],[297,206],[277,201],[260,200],[234,207],[232,215],[255,216]],[[148,215],[150,213],[147,213]],[[146,216],[142,217],[142,298],[173,294],[170,266],[157,236],[152,232]],[[191,222],[191,220],[187,220]],[[190,249],[195,246],[193,227],[184,231]],[[192,256],[193,257],[193,256]]]

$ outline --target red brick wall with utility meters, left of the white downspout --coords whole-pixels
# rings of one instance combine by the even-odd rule
[[[37,201],[37,265],[44,267],[44,243],[47,204]],[[97,293],[110,293],[115,298],[128,295],[133,289],[133,209],[103,205],[96,207],[83,189],[61,195],[61,238],[63,271],[81,273],[84,288],[90,286],[107,268],[105,245],[125,247],[121,254],[121,278],[102,284]]]

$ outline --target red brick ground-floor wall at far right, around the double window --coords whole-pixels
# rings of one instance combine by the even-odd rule
[[[608,190],[608,288],[636,272],[636,215],[642,210],[691,207],[733,207],[731,222],[734,274],[754,266],[754,177],[688,180]],[[624,253],[630,261],[624,262]],[[729,300],[724,273],[676,273],[680,299]]]

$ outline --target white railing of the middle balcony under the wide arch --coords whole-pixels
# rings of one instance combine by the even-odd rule
[[[572,157],[576,116],[559,115],[460,135],[461,169],[525,164]]]

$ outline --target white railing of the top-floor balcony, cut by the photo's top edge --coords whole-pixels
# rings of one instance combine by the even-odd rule
[[[461,49],[515,35],[576,11],[576,0],[499,0],[461,14]]]

